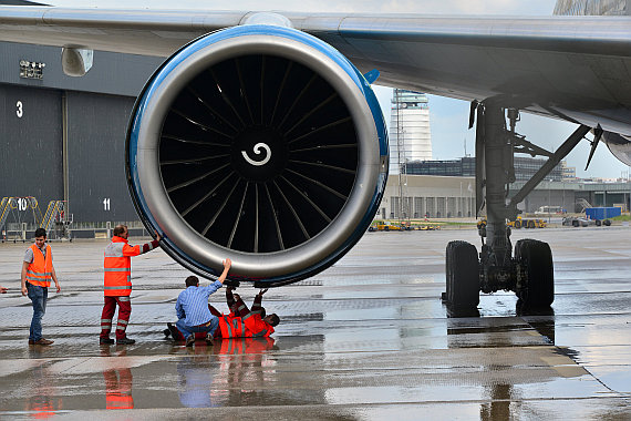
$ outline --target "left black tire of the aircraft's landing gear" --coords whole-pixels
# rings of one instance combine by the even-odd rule
[[[446,253],[447,302],[459,308],[479,304],[479,263],[477,250],[466,242],[449,242]]]

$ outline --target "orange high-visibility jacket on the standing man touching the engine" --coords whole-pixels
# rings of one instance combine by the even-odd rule
[[[124,297],[132,294],[132,256],[142,253],[141,246],[130,246],[125,238],[112,237],[105,247],[104,284],[106,297]]]

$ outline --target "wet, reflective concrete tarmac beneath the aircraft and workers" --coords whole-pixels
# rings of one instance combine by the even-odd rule
[[[99,345],[103,240],[52,244],[62,291],[43,332],[55,342],[29,346],[28,244],[0,244],[0,419],[631,419],[631,228],[513,242],[524,237],[552,248],[548,311],[497,292],[479,317],[447,317],[445,246],[478,246],[476,232],[369,233],[324,273],[266,294],[281,318],[271,339],[193,349],[163,333],[189,273],[161,250],[133,259],[137,343]],[[256,291],[239,288],[247,302]]]

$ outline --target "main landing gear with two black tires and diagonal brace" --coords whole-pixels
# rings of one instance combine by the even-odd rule
[[[476,209],[486,208],[487,224],[479,229],[482,249],[473,244],[451,242],[446,250],[446,292],[443,300],[452,311],[476,309],[479,291],[515,291],[521,308],[545,308],[555,300],[552,253],[547,243],[520,239],[510,244],[507,219],[517,217],[517,204],[583,138],[590,127],[581,125],[554,153],[526,141],[515,132],[519,112],[494,101],[472,103],[469,129],[476,124]],[[509,129],[506,127],[506,119]],[[600,129],[600,127],[598,127]],[[599,133],[596,131],[594,143]],[[513,198],[514,154],[547,156],[548,161]],[[486,238],[486,242],[485,242]]]

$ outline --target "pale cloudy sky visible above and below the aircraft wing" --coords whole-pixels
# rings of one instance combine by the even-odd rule
[[[42,0],[42,2],[46,2]],[[199,9],[199,10],[266,10],[310,11],[310,12],[366,12],[366,13],[425,13],[425,14],[486,14],[486,16],[551,16],[556,0],[53,0],[48,3],[60,7],[103,7],[108,9]],[[377,81],[379,83],[379,81]],[[392,90],[374,86],[385,121],[390,124],[390,102]],[[430,99],[430,123],[434,160],[455,160],[473,155],[475,130],[468,130],[468,102],[427,95]],[[536,145],[548,151],[558,147],[573,131],[575,124],[521,113],[516,131]],[[591,138],[591,135],[588,135]],[[596,151],[587,171],[590,143],[582,141],[566,157],[568,166],[576,167],[577,176],[628,177],[630,168],[618,161],[603,143]]]

